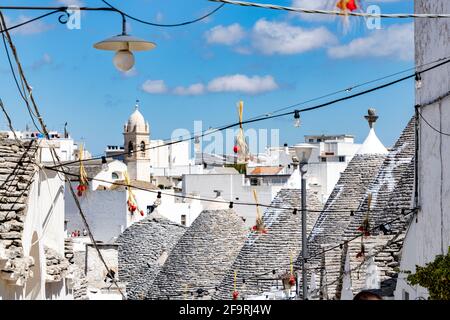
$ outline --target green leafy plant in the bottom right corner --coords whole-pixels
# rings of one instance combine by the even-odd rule
[[[450,248],[447,255],[438,255],[425,267],[416,266],[416,273],[406,278],[411,285],[420,285],[432,300],[450,300]]]

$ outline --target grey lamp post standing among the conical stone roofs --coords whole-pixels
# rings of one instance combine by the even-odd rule
[[[313,149],[317,147],[308,144],[300,143],[294,146],[295,154],[298,161],[300,162],[300,173],[302,178],[301,191],[302,191],[302,283],[303,283],[303,299],[308,297],[308,285],[305,261],[308,259],[308,247],[307,247],[307,237],[306,237],[306,178],[305,174],[308,171],[308,160],[311,157]],[[297,287],[298,289],[298,287]],[[297,294],[298,294],[297,290]]]

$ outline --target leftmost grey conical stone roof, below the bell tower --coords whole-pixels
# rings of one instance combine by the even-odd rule
[[[143,299],[167,256],[186,228],[156,212],[127,228],[119,244],[119,279],[128,299]]]

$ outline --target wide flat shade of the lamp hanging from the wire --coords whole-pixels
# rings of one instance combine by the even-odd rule
[[[156,47],[156,44],[127,34],[114,36],[94,44],[94,48],[99,50],[129,50],[129,51],[148,51]]]

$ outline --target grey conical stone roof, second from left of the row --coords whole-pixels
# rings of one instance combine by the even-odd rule
[[[148,292],[150,299],[180,299],[199,289],[211,295],[246,239],[234,210],[205,210],[175,245]]]

